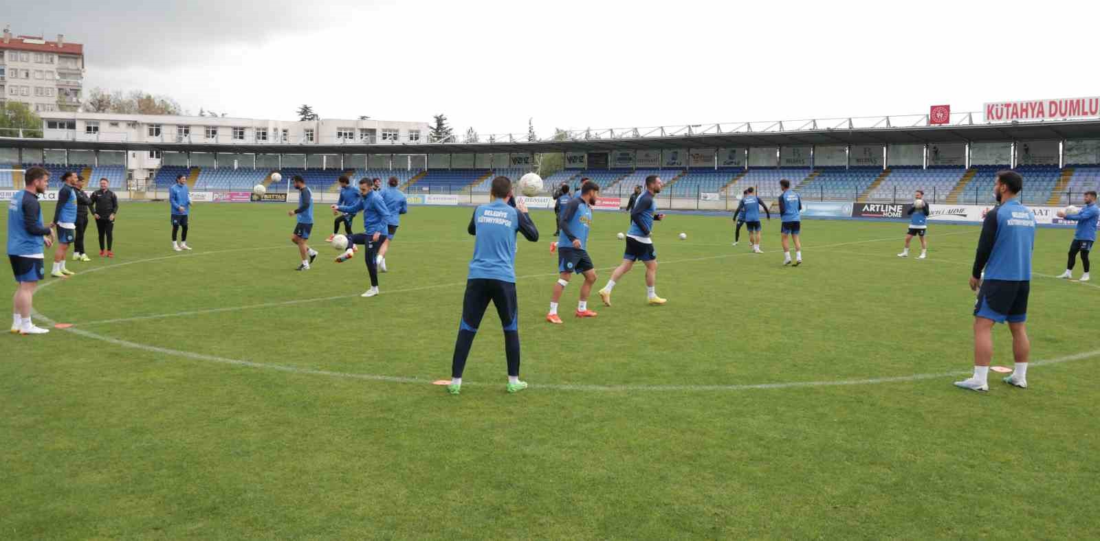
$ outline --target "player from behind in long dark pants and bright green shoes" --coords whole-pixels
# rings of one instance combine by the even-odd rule
[[[539,230],[527,213],[527,207],[508,205],[512,180],[496,177],[490,188],[493,200],[474,210],[466,231],[474,235],[474,256],[470,261],[466,292],[462,299],[462,320],[459,338],[454,341],[451,360],[451,384],[447,390],[458,395],[462,387],[462,371],[466,367],[470,347],[477,335],[477,327],[490,301],[504,327],[504,351],[508,358],[508,393],[527,388],[519,380],[519,305],[516,299],[516,232],[531,242],[538,242]]]

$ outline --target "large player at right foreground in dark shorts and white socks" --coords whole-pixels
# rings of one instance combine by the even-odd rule
[[[978,291],[974,306],[974,376],[955,385],[989,390],[987,378],[993,358],[993,324],[1009,323],[1015,369],[1004,383],[1027,387],[1027,296],[1031,291],[1035,214],[1016,196],[1023,178],[1014,170],[997,174],[993,196],[1000,203],[986,214],[978,251],[970,270],[970,289]],[[985,272],[983,272],[985,270]]]

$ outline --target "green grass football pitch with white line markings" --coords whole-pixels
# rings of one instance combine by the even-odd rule
[[[41,290],[35,308],[77,332],[3,339],[0,538],[1100,536],[1100,355],[1035,365],[1027,390],[726,387],[967,372],[977,228],[934,225],[920,262],[894,256],[902,224],[810,221],[805,265],[784,268],[776,221],[750,255],[728,218],[671,216],[667,306],[646,306],[637,268],[578,321],[575,279],[556,327],[552,214],[536,212],[542,241],[517,257],[531,387],[505,393],[490,309],[454,397],[427,382],[450,372],[470,209],[414,208],[383,295],[361,299],[362,256],[294,270],[286,208],[199,205],[195,252],[176,254],[164,205],[125,206],[119,256]],[[595,217],[597,287],[626,227]],[[1063,270],[1068,235],[1038,232],[1036,272]],[[1036,277],[1033,360],[1098,350],[1098,299]],[[96,323],[182,311],[200,313]],[[1011,366],[1003,327],[996,345]]]

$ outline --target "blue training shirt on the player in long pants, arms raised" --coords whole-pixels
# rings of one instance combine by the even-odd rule
[[[539,240],[539,230],[527,213],[520,213],[503,199],[474,209],[466,232],[474,235],[474,256],[470,260],[468,279],[516,281],[516,232],[531,242]]]

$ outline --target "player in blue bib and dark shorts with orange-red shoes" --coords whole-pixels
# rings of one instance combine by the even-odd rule
[[[558,239],[558,283],[553,285],[553,294],[550,296],[550,313],[547,321],[561,324],[558,317],[558,301],[561,294],[569,285],[573,274],[584,275],[584,284],[581,285],[581,300],[576,305],[578,318],[595,318],[596,312],[588,310],[588,295],[592,286],[596,283],[596,268],[588,257],[588,230],[592,228],[592,207],[596,205],[600,197],[600,185],[592,180],[585,180],[581,185],[581,195],[572,198],[561,212],[561,220],[558,228],[561,236]]]

